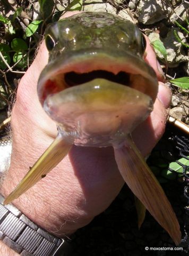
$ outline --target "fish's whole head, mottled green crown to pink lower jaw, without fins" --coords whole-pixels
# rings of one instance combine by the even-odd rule
[[[48,65],[38,82],[47,114],[76,145],[123,141],[152,111],[158,82],[145,63],[145,38],[130,21],[82,12],[53,23]]]

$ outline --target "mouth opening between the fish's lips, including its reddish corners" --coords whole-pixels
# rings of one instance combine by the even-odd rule
[[[67,73],[59,73],[58,75],[52,76],[45,82],[41,99],[42,101],[45,101],[49,94],[55,94],[67,88],[88,83],[96,78],[106,79],[107,83],[108,81],[110,81],[115,82],[116,84],[131,87],[135,90],[149,95],[152,100],[154,100],[155,98],[154,94],[156,94],[156,90],[153,90],[153,83],[151,83],[151,81],[149,81],[142,75],[126,73],[124,71],[119,71],[117,74],[114,74],[111,71],[99,69],[92,70],[88,73],[77,73],[75,71],[70,71]]]

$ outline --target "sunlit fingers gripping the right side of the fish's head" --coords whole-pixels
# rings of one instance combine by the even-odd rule
[[[132,133],[136,146],[138,146],[144,156],[147,156],[161,138],[162,134],[164,134],[167,121],[166,109],[170,105],[171,91],[166,84],[162,83],[165,82],[164,73],[156,58],[156,53],[150,45],[149,38],[146,35],[144,36],[147,41],[145,50],[147,55],[144,57],[144,60],[154,69],[158,81],[160,81],[157,99],[154,103],[154,109],[151,115]]]

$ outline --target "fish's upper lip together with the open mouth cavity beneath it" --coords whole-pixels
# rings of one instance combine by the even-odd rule
[[[38,95],[43,105],[49,95],[102,78],[157,97],[158,81],[153,69],[142,58],[130,53],[117,56],[106,52],[85,52],[50,62],[38,81]],[[76,90],[76,89],[75,89]]]

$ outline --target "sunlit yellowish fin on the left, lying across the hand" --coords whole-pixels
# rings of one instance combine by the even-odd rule
[[[37,162],[30,167],[29,172],[20,181],[19,185],[5,198],[3,204],[11,203],[14,199],[18,198],[35,185],[40,179],[45,178],[46,174],[67,155],[71,147],[72,145],[70,143],[57,135],[56,139],[39,157]]]

